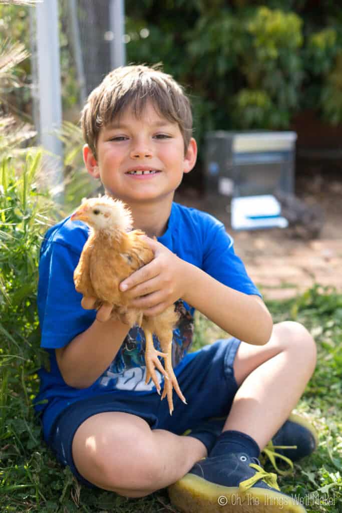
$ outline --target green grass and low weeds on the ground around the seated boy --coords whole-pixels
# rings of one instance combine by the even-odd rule
[[[268,304],[275,322],[303,323],[317,341],[318,363],[297,405],[316,426],[319,446],[295,464],[291,476],[279,477],[286,493],[303,497],[309,513],[339,513],[342,509],[342,295],[318,286],[286,302]],[[196,315],[194,348],[226,336],[202,315]],[[14,356],[0,354],[0,510],[16,513],[140,513],[176,512],[166,490],[144,499],[126,499],[80,486],[69,469],[62,468],[41,440],[32,415],[31,398],[37,390],[35,369],[25,362],[22,376],[13,380],[6,365]],[[29,369],[29,370],[28,370]],[[267,469],[271,467],[267,465]]]

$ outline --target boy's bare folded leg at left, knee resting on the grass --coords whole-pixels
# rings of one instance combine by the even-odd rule
[[[79,426],[72,455],[78,472],[99,488],[144,497],[182,478],[207,450],[195,438],[151,430],[135,415],[104,412]]]

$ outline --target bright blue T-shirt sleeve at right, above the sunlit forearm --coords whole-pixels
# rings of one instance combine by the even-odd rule
[[[228,287],[262,297],[235,254],[233,239],[217,220],[208,223],[204,235],[203,270]]]

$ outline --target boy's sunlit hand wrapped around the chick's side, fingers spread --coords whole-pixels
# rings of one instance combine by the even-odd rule
[[[120,283],[119,289],[131,299],[130,308],[156,315],[183,296],[188,287],[187,263],[160,242],[145,236],[154,259]]]

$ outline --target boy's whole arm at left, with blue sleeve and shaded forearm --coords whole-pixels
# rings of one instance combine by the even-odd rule
[[[94,300],[76,292],[73,272],[85,234],[73,229],[59,242],[48,240],[39,262],[38,310],[44,348],[54,350],[64,381],[75,388],[91,386],[108,368],[126,334],[128,324],[106,318],[103,305],[95,319]],[[64,229],[64,231],[66,231]],[[65,234],[64,234],[65,235]],[[75,244],[70,246],[71,239]],[[108,313],[108,312],[107,312]],[[106,322],[104,322],[106,321]]]

